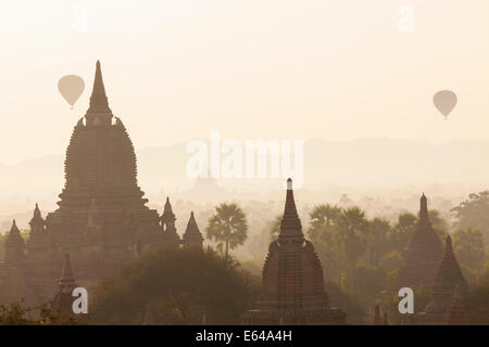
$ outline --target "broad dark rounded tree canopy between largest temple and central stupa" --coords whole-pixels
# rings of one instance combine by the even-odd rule
[[[255,300],[260,279],[212,249],[160,249],[96,288],[95,323],[238,324]]]

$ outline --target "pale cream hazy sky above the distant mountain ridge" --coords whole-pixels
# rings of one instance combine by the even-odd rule
[[[97,59],[137,147],[211,130],[489,141],[487,0],[2,1],[0,41],[0,163],[64,152]],[[74,111],[58,92],[66,74],[87,83]],[[440,89],[459,95],[448,121]]]

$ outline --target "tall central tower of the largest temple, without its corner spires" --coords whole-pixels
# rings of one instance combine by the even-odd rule
[[[156,243],[158,211],[137,184],[133,142],[109,107],[100,62],[90,105],[66,150],[65,179],[60,207],[46,218],[54,268],[70,253],[79,280],[91,281]]]

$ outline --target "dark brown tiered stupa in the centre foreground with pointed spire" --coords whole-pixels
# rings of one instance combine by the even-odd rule
[[[278,240],[271,243],[263,266],[258,309],[247,311],[244,324],[344,324],[346,314],[329,308],[323,268],[314,246],[302,234],[293,200],[292,180]]]

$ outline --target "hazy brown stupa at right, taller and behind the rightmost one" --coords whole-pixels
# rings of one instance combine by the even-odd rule
[[[397,287],[417,287],[422,283],[430,287],[442,256],[442,246],[428,217],[428,202],[421,197],[419,219],[416,230],[403,253],[402,266],[397,278]]]

